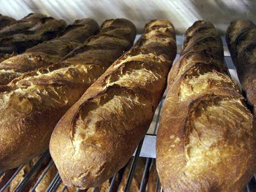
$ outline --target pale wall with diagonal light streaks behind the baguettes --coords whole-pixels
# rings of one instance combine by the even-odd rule
[[[71,23],[90,17],[99,24],[105,19],[127,18],[141,32],[146,22],[170,20],[177,34],[199,19],[209,20],[224,34],[232,20],[250,19],[256,23],[254,0],[0,0],[0,13],[20,19],[30,12],[41,12]]]

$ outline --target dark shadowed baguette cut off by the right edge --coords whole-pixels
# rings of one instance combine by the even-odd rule
[[[256,117],[256,26],[250,20],[230,24],[226,41],[250,110]]]

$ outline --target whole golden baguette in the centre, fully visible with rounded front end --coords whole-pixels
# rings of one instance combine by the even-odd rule
[[[50,152],[65,185],[86,189],[112,177],[133,155],[152,121],[176,56],[167,20],[152,20],[61,118]]]

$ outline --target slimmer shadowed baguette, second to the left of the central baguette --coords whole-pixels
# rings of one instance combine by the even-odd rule
[[[0,85],[6,85],[24,72],[54,64],[98,32],[93,19],[76,20],[59,37],[36,45],[0,63]]]

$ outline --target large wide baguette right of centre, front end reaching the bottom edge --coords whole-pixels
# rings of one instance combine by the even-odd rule
[[[238,192],[256,170],[255,120],[226,75],[214,26],[194,23],[184,42],[156,137],[160,182],[165,192]]]

